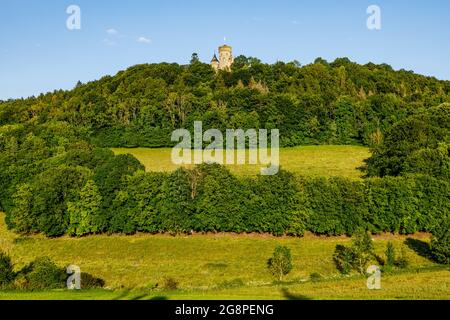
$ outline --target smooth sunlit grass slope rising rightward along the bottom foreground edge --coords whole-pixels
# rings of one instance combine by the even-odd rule
[[[309,300],[309,299],[450,299],[450,272],[448,270],[423,270],[388,274],[382,277],[380,290],[368,290],[366,279],[329,279],[320,282],[245,285],[228,289],[193,289],[179,291],[157,290],[81,290],[0,292],[0,299],[25,300]]]

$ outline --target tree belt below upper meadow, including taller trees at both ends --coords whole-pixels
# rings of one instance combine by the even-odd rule
[[[389,172],[390,177],[363,181],[302,178],[285,171],[238,178],[217,165],[144,173],[134,157],[115,156],[83,140],[82,127],[62,122],[6,125],[0,127],[0,204],[10,228],[47,236],[190,231],[301,235],[306,230],[339,235],[358,227],[431,231],[450,221],[448,117],[449,105],[443,104],[399,122],[379,150],[402,157],[376,153],[369,170],[379,163],[421,165],[401,165],[396,177]],[[426,121],[411,125],[417,118]],[[410,137],[408,130],[415,134]],[[426,152],[415,153],[423,148]],[[435,151],[439,157],[430,156]]]

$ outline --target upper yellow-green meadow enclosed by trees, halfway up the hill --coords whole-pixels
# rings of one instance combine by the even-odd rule
[[[113,149],[116,154],[134,155],[148,171],[172,171],[172,149]],[[308,176],[361,177],[357,168],[370,157],[370,151],[358,146],[305,146],[280,149],[280,164],[285,170]],[[227,165],[239,175],[258,174],[261,165]]]

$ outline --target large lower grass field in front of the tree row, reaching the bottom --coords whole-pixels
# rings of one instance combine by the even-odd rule
[[[383,274],[382,289],[368,290],[364,277],[340,276],[331,260],[346,237],[276,238],[268,235],[90,236],[81,239],[20,237],[6,230],[0,215],[0,249],[19,269],[36,257],[49,256],[59,265],[77,264],[82,271],[106,281],[104,290],[81,292],[0,292],[0,299],[450,299],[450,270],[409,247],[411,268]],[[387,241],[397,248],[405,236],[374,238],[382,254]],[[418,243],[429,236],[415,235]],[[276,245],[291,248],[294,269],[277,284],[266,269]],[[322,280],[311,282],[311,273]],[[166,277],[179,282],[178,290],[156,287]]]

